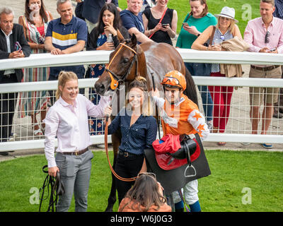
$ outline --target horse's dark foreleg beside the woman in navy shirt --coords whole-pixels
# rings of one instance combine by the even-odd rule
[[[118,133],[112,134],[112,145],[113,145],[113,165],[112,168],[115,169],[116,165],[116,159],[117,159],[117,153],[118,153],[118,148],[120,145],[121,141],[121,134],[120,131]],[[115,183],[115,176],[112,174],[112,185],[111,185],[111,191],[108,197],[108,206],[105,209],[105,212],[112,212],[113,211],[113,206],[116,202],[116,183]]]

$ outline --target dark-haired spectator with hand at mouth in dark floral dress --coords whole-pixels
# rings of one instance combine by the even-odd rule
[[[113,42],[107,42],[109,35],[112,34]],[[122,35],[121,35],[122,34]],[[120,39],[129,38],[129,33],[122,26],[119,11],[115,4],[105,4],[100,11],[98,25],[93,28],[88,37],[86,50],[112,50],[120,43]],[[105,64],[92,64],[86,71],[85,78],[98,78],[102,75]],[[90,90],[90,99],[93,104],[98,105],[100,97],[96,95],[93,89]],[[90,119],[91,135],[100,135],[103,132],[102,119]]]

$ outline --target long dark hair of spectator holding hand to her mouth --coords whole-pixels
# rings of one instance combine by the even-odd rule
[[[105,10],[108,10],[114,14],[113,28],[115,30],[117,29],[122,30],[122,20],[120,18],[120,14],[119,14],[119,11],[117,10],[117,7],[115,6],[115,4],[108,3],[108,4],[105,4],[101,8],[101,11],[98,17],[98,25],[96,27],[94,37],[98,37],[100,34],[104,32],[105,24],[103,23],[102,18],[103,18],[103,13]]]

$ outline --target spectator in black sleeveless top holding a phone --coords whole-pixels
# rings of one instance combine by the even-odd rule
[[[173,45],[171,38],[176,35],[178,16],[177,11],[167,8],[167,3],[168,0],[157,1],[156,6],[144,10],[142,15],[144,35],[154,42],[166,42]]]

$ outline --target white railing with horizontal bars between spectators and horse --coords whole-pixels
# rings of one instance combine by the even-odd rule
[[[283,54],[261,54],[250,52],[202,52],[192,49],[178,49],[185,62],[208,62],[208,63],[222,63],[222,64],[268,64],[268,65],[282,65]],[[93,51],[93,52],[79,52],[68,55],[51,55],[51,54],[32,54],[30,57],[24,59],[3,59],[0,60],[0,71],[5,69],[22,69],[30,67],[43,66],[66,66],[79,64],[106,64],[109,60],[108,51]],[[283,88],[283,79],[263,79],[263,78],[210,78],[210,77],[195,77],[196,85],[225,85],[225,86],[239,86],[243,87],[241,93],[233,94],[243,95],[248,102],[247,88],[249,86],[255,87],[274,87]],[[96,79],[80,79],[80,88],[93,87]],[[245,90],[246,88],[246,90]],[[57,81],[44,81],[35,83],[8,83],[0,84],[0,93],[15,93],[35,90],[56,90]],[[238,91],[237,91],[238,92]],[[233,99],[233,97],[232,97]],[[238,108],[246,107],[249,109],[249,104],[243,105],[239,103]],[[236,111],[235,111],[236,112]],[[240,113],[238,113],[240,114]],[[233,112],[231,112],[231,121],[233,121]],[[236,117],[243,118],[241,115]],[[230,119],[229,119],[230,120]],[[249,117],[246,117],[249,121]],[[276,124],[283,127],[282,120],[276,119]],[[273,121],[273,120],[272,120]],[[276,127],[276,126],[275,126]],[[277,126],[279,127],[279,126]],[[240,130],[239,130],[240,131]],[[283,143],[283,131],[261,136],[248,134],[249,129],[244,133],[237,133],[235,131],[229,133],[211,133],[206,141],[226,141],[226,142],[252,142],[252,143]],[[44,148],[44,139],[28,140],[28,141],[13,141],[0,143],[0,151],[4,150],[19,150],[19,149],[35,149]],[[91,141],[94,143],[103,143],[104,136],[91,136]],[[110,136],[108,137],[110,140]]]

